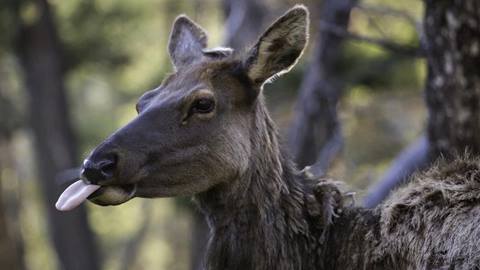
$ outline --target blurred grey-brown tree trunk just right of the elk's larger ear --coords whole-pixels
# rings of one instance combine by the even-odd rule
[[[315,161],[314,173],[321,174],[340,151],[342,135],[337,103],[342,86],[336,77],[343,37],[322,29],[323,24],[347,29],[350,11],[357,0],[325,0],[320,32],[315,41],[313,62],[303,79],[289,146],[300,168]]]

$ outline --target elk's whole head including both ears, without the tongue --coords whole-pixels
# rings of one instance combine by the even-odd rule
[[[206,50],[203,30],[179,17],[169,43],[177,71],[145,93],[138,116],[84,162],[82,179],[102,186],[90,200],[193,195],[238,179],[252,154],[256,98],[301,55],[307,24],[306,10],[294,8],[234,60],[228,50]]]

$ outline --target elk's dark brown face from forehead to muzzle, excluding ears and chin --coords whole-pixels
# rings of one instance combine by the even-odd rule
[[[86,166],[84,177],[163,197],[199,193],[241,175],[250,156],[251,103],[235,77],[211,66],[178,72],[144,94],[138,116],[88,158],[108,164],[104,174]]]

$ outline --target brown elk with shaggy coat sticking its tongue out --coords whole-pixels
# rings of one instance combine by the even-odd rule
[[[175,72],[94,149],[57,208],[191,195],[211,228],[212,270],[479,269],[478,160],[440,162],[364,209],[281,150],[263,85],[295,65],[308,23],[295,6],[240,54],[207,49],[204,30],[178,17]]]

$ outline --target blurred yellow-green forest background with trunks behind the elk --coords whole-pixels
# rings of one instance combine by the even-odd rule
[[[311,11],[309,47],[265,94],[299,166],[317,161],[316,173],[346,181],[369,206],[421,166],[420,0],[2,0],[0,268],[198,267],[207,229],[189,198],[68,214],[53,204],[88,152],[172,71],[177,15],[202,25],[211,47],[242,48],[296,3]]]

